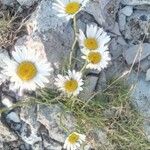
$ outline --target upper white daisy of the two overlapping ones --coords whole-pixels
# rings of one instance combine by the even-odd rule
[[[80,29],[78,34],[81,51],[108,50],[110,36],[97,25],[87,25],[86,35]]]

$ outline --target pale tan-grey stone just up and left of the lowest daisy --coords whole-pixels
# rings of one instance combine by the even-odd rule
[[[45,107],[44,105],[39,106],[37,121],[46,127],[49,131],[49,136],[52,139],[64,143],[66,133],[61,126],[65,125],[65,128],[69,131],[74,131],[75,119],[69,114],[65,114],[65,116],[63,116],[61,111],[61,108],[57,105],[52,105],[49,107]]]

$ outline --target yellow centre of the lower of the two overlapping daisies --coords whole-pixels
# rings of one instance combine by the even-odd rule
[[[87,59],[92,64],[98,64],[102,60],[102,56],[99,52],[90,52]]]

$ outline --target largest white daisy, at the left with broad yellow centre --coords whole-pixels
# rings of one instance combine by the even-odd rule
[[[2,73],[10,77],[13,89],[35,90],[38,86],[43,88],[49,80],[47,76],[53,70],[47,60],[42,59],[40,54],[25,46],[16,47],[12,52],[13,60],[5,58],[5,66]]]

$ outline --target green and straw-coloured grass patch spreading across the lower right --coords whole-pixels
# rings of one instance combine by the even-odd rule
[[[130,92],[125,81],[112,80],[108,88],[88,102],[76,97],[66,98],[48,89],[40,91],[40,99],[35,102],[59,103],[64,109],[63,114],[69,111],[74,115],[79,132],[88,134],[91,129],[103,129],[115,150],[148,150],[150,144],[143,132],[143,120],[130,101]],[[97,143],[95,149],[107,147]]]

